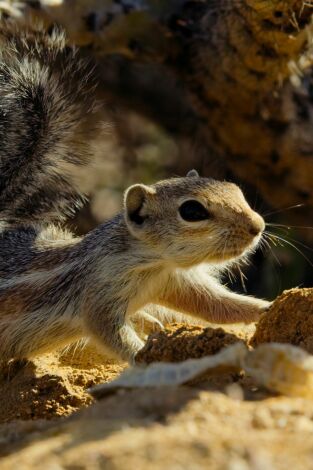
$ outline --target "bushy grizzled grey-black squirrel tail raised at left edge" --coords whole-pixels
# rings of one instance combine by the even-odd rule
[[[80,205],[97,132],[90,63],[51,35],[0,29],[0,220],[50,222]]]

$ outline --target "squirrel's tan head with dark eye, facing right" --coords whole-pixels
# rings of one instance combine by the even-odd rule
[[[184,178],[131,186],[124,215],[136,239],[178,267],[241,258],[265,228],[237,185],[201,178],[195,170]]]

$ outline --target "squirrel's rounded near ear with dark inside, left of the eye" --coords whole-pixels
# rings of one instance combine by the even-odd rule
[[[126,210],[127,218],[134,222],[136,225],[141,225],[145,216],[140,215],[140,211],[144,202],[149,196],[155,194],[155,190],[144,184],[134,184],[130,186],[125,192],[124,207]]]

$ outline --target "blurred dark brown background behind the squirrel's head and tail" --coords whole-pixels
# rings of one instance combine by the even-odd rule
[[[73,230],[116,214],[128,185],[195,168],[236,182],[282,225],[226,282],[269,299],[312,286],[310,0],[7,0],[0,10],[47,34],[64,28],[97,74],[103,132]]]

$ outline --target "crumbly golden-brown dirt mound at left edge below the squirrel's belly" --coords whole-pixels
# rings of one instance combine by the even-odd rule
[[[91,347],[2,364],[0,423],[68,416],[92,403],[87,388],[112,380],[122,369]]]

